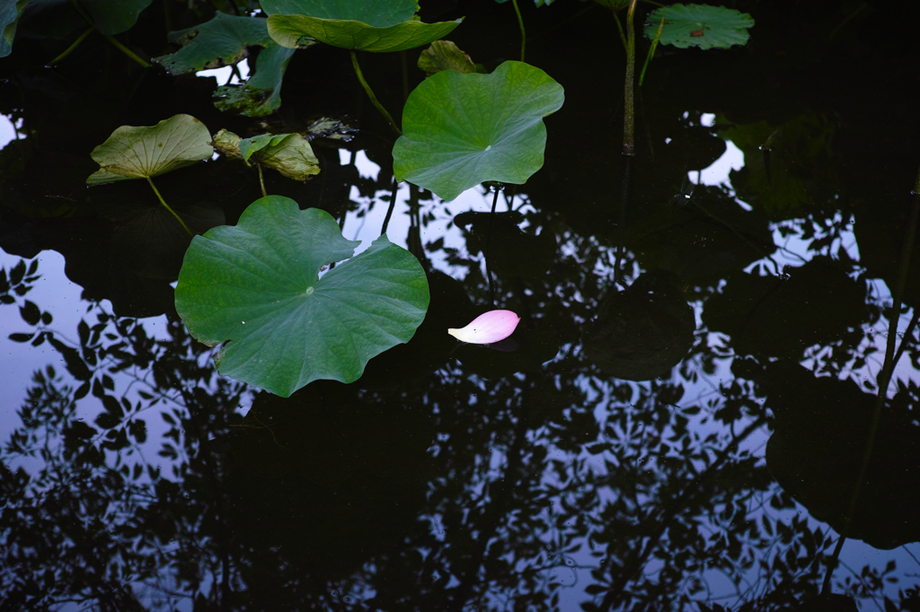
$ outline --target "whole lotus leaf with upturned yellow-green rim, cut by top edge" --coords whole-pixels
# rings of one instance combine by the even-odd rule
[[[406,51],[443,38],[462,19],[422,23],[415,0],[264,0],[269,33],[294,49],[304,38],[354,51]]]

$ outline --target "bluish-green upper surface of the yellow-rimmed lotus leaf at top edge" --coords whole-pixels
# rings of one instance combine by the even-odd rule
[[[418,0],[262,0],[261,6],[266,15],[347,19],[374,28],[395,26],[419,11]]]

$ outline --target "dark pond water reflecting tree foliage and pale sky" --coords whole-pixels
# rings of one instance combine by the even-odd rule
[[[510,3],[422,4],[466,16],[448,38],[474,62],[518,59]],[[214,6],[155,0],[116,38],[161,55]],[[369,242],[394,137],[348,52],[294,53],[253,119],[214,108],[228,70],[144,70],[97,35],[46,67],[82,29],[20,25],[0,60],[0,608],[920,610],[917,8],[732,6],[746,46],[659,47],[624,198],[614,18],[523,0],[526,60],[565,87],[546,164],[490,236],[456,219],[488,187],[399,187],[388,234],[428,272],[426,323],[290,400],[217,375],[173,305],[187,241],[138,221],[144,181],[85,187],[89,153],[178,113],[244,136],[336,119],[318,176],[266,187]],[[362,54],[396,117],[419,51]],[[228,224],[260,197],[219,156],[157,186]],[[456,348],[446,328],[493,302],[520,348]]]

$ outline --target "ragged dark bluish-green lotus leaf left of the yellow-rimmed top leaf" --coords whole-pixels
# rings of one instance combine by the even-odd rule
[[[274,45],[265,19],[214,14],[211,21],[194,28],[169,32],[169,41],[182,48],[155,57],[169,74],[196,73],[200,70],[233,65],[247,55],[247,47]]]

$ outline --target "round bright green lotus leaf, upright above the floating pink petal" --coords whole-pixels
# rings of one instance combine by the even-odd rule
[[[434,74],[403,108],[397,180],[446,200],[483,181],[523,184],[543,166],[543,118],[564,98],[561,85],[523,62],[504,62],[492,74]]]

